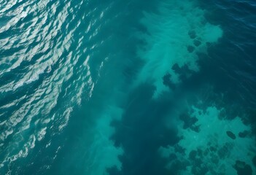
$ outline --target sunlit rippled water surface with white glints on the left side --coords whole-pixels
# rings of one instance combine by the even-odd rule
[[[93,93],[89,60],[101,42],[90,41],[103,13],[74,3],[0,1],[0,169],[60,133],[74,105]]]

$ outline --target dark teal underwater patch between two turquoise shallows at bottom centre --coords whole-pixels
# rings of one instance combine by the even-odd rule
[[[168,174],[167,160],[158,154],[159,147],[174,145],[179,141],[177,132],[164,124],[171,101],[154,101],[154,88],[141,85],[129,95],[122,120],[113,121],[116,147],[123,147],[120,156],[120,174]],[[115,168],[109,174],[116,174]]]

